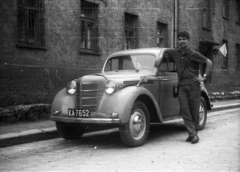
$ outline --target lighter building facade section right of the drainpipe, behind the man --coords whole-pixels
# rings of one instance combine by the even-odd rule
[[[178,7],[178,29],[188,30],[192,47],[213,62],[208,90],[240,90],[240,1],[179,0]]]

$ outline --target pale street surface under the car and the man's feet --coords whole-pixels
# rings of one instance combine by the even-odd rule
[[[0,171],[232,171],[240,170],[240,109],[209,113],[200,142],[185,142],[181,120],[152,126],[145,145],[125,147],[118,132],[0,148]]]

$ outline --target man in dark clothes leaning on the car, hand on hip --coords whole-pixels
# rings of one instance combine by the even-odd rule
[[[187,31],[178,33],[178,48],[167,49],[165,55],[175,61],[178,74],[178,100],[189,137],[187,142],[197,143],[199,107],[201,98],[200,82],[205,81],[212,70],[212,62],[189,47],[190,35]],[[199,75],[199,65],[206,64],[203,76]],[[160,65],[160,59],[155,66]]]

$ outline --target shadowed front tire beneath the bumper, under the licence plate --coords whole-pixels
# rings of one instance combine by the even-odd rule
[[[56,122],[56,127],[59,135],[65,140],[79,139],[86,130],[85,126],[78,126],[63,122]]]

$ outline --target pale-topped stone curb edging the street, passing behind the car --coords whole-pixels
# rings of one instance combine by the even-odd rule
[[[219,105],[212,107],[211,111],[233,109],[240,107],[240,103],[233,103],[228,105]],[[97,134],[104,131],[95,131],[86,133],[86,135]],[[47,139],[54,139],[60,137],[56,127],[45,128],[45,129],[33,129],[22,131],[20,133],[9,133],[0,135],[0,147],[6,147],[11,145],[30,143],[34,141],[41,141]]]

